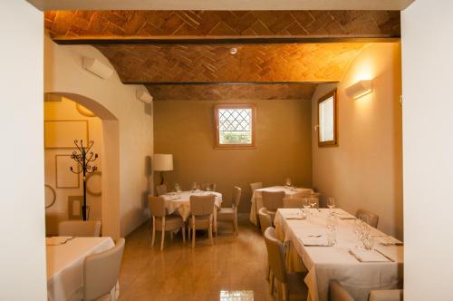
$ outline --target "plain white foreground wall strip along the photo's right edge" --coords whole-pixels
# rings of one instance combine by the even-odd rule
[[[453,2],[401,15],[405,300],[451,300]]]

